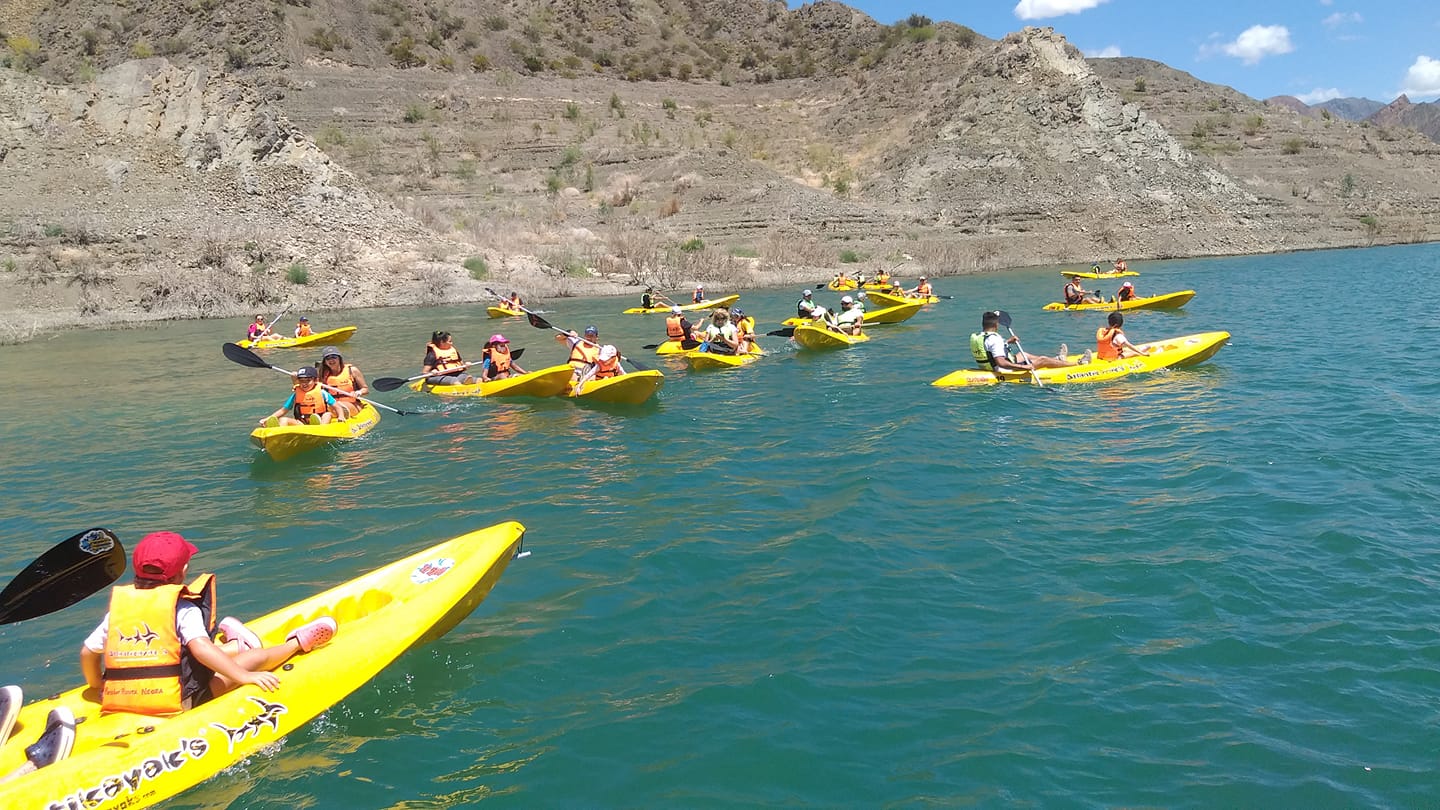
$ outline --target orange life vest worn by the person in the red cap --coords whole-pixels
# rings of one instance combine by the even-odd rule
[[[120,585],[111,591],[101,711],[174,715],[184,711],[189,695],[209,682],[213,673],[180,644],[176,628],[180,600],[200,607],[206,630],[215,636],[215,577],[210,574],[189,587],[140,589]]]

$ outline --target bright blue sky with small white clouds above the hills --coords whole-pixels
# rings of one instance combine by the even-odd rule
[[[791,6],[801,3],[791,0]],[[1142,56],[1253,98],[1308,104],[1440,98],[1436,0],[848,0],[880,23],[910,14],[999,39],[1051,26],[1087,56]]]

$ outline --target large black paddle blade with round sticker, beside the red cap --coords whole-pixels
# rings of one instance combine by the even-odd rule
[[[68,608],[125,572],[125,548],[109,529],[62,540],[0,591],[0,624]]]

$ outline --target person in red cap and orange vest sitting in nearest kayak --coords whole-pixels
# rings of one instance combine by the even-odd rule
[[[134,584],[111,591],[109,613],[81,647],[81,672],[99,690],[101,711],[164,716],[238,686],[274,692],[279,677],[269,670],[336,634],[336,620],[325,615],[265,647],[238,620],[216,623],[215,575],[184,584],[196,551],[176,532],[153,532],[135,545]],[[223,644],[215,641],[217,631]]]

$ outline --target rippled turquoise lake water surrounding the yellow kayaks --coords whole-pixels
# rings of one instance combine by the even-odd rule
[[[953,294],[868,344],[691,373],[631,300],[544,304],[665,369],[628,411],[405,391],[369,437],[287,464],[246,434],[285,378],[243,321],[0,347],[0,571],[92,525],[170,528],[256,614],[503,519],[475,614],[177,806],[1424,806],[1434,801],[1440,246],[1135,262],[1135,340],[1224,329],[1174,373],[937,389],[979,311],[1079,352],[1060,277]],[[1113,282],[1102,282],[1107,291]],[[746,293],[763,329],[798,290]],[[824,293],[822,300],[835,294]],[[408,376],[482,307],[311,314]],[[331,323],[334,321],[334,323]],[[274,352],[274,362],[312,360]],[[0,680],[78,680],[92,598],[0,627]],[[344,627],[341,627],[344,633]]]

